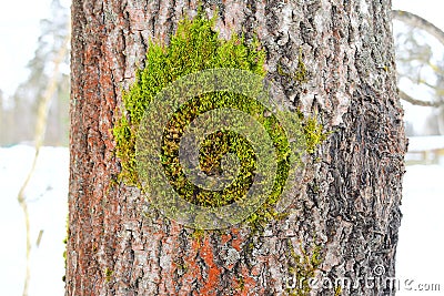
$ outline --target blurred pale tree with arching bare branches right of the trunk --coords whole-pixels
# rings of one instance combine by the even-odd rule
[[[395,44],[401,99],[413,105],[431,109],[428,118],[425,119],[426,131],[415,132],[412,129],[408,135],[443,134],[444,32],[407,11],[395,10],[393,16],[400,22],[395,23]],[[410,90],[406,85],[410,85]]]

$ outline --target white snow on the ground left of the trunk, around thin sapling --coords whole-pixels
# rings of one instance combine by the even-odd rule
[[[0,149],[0,295],[22,295],[26,271],[24,216],[17,194],[32,163],[34,149]],[[31,220],[29,296],[64,295],[63,238],[68,215],[68,149],[43,147],[26,197]],[[37,239],[43,234],[40,245]]]

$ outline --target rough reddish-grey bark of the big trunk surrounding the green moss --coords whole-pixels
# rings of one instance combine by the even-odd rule
[[[269,78],[332,133],[307,164],[286,218],[253,238],[239,226],[198,239],[152,212],[137,188],[115,185],[110,131],[149,41],[168,42],[184,14],[195,16],[196,1],[74,0],[67,295],[285,295],[290,244],[296,253],[321,246],[317,278],[357,280],[379,266],[394,276],[406,141],[391,2],[203,2],[210,16],[218,11],[223,37],[258,34]],[[294,72],[300,50],[306,83],[278,71]],[[361,285],[342,293],[390,290]]]

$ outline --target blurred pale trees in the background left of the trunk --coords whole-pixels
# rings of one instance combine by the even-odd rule
[[[59,0],[51,3],[51,17],[40,22],[41,35],[34,57],[29,61],[29,76],[19,84],[0,118],[2,139],[0,145],[12,145],[34,139],[38,109],[50,83],[54,60],[69,33],[69,10]],[[65,48],[61,71],[57,76],[57,90],[49,104],[48,126],[44,134],[46,145],[67,145],[69,126],[69,54]],[[3,133],[4,132],[4,133]]]

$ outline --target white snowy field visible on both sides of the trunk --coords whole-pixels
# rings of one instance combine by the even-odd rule
[[[24,220],[17,193],[30,169],[33,149],[0,149],[0,295],[21,295],[24,277]],[[68,194],[68,150],[44,147],[26,192],[31,215],[30,296],[63,295],[62,276]],[[397,295],[444,295],[444,165],[407,166],[397,248]],[[43,232],[37,245],[40,232]],[[424,284],[420,286],[420,284]],[[441,292],[418,292],[441,284]]]

